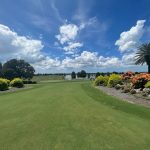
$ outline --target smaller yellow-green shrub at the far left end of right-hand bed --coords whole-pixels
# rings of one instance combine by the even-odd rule
[[[109,79],[108,76],[98,76],[98,77],[95,79],[94,84],[95,84],[96,86],[99,86],[99,85],[104,85],[104,86],[106,86],[106,85],[107,85],[107,82],[108,82],[108,79]]]

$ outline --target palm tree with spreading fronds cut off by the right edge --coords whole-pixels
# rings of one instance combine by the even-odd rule
[[[148,65],[148,73],[150,73],[150,43],[142,44],[135,56],[136,65],[143,65],[144,63]]]

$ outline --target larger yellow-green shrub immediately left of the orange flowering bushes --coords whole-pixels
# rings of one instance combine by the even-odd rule
[[[115,87],[117,84],[122,84],[121,76],[118,74],[110,75],[107,86]]]

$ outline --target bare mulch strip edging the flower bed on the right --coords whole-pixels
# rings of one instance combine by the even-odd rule
[[[131,95],[130,93],[122,93],[121,90],[116,90],[115,88],[109,88],[107,86],[99,86],[99,89],[108,95],[118,97],[123,101],[127,101],[129,103],[140,104],[144,106],[150,106],[150,99],[145,99],[144,97],[140,97],[140,95],[135,94]]]

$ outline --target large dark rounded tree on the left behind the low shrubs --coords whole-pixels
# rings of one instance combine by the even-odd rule
[[[7,61],[2,68],[4,77],[10,80],[16,77],[31,79],[34,72],[34,68],[29,63],[17,59]]]

